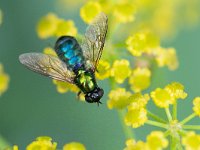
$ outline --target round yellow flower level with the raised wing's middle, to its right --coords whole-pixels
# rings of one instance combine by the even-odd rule
[[[136,33],[126,40],[127,49],[133,56],[141,56],[146,48],[146,36],[144,33]]]

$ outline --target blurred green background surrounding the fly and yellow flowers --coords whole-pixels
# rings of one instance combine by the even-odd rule
[[[0,9],[3,12],[0,62],[11,79],[9,89],[0,97],[0,135],[20,149],[41,135],[52,137],[59,147],[77,141],[88,150],[123,149],[125,136],[118,113],[106,106],[109,90],[106,81],[99,82],[105,96],[104,104],[97,107],[78,102],[74,93],[59,94],[52,80],[25,69],[18,61],[21,53],[41,52],[44,47],[54,45],[56,39],[40,40],[36,34],[38,20],[48,12],[73,19],[83,33],[86,24],[79,9],[63,12],[54,0],[0,0]],[[182,30],[162,45],[177,49],[180,67],[174,72],[159,69],[152,88],[171,81],[184,84],[189,96],[179,103],[178,111],[179,118],[185,118],[192,112],[192,99],[200,95],[200,26]],[[154,112],[163,114],[160,110]],[[200,124],[200,119],[191,123]],[[144,140],[152,129],[147,125],[136,129],[136,138]]]

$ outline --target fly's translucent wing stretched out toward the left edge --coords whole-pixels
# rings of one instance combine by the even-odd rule
[[[53,79],[73,83],[75,75],[59,58],[42,53],[25,53],[19,61],[28,69]]]

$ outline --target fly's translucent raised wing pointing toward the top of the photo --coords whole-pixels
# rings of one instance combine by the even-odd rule
[[[104,13],[98,14],[93,22],[87,27],[85,37],[81,44],[86,61],[91,63],[95,71],[101,58],[106,33],[108,29],[108,18]],[[87,62],[86,62],[87,63]]]

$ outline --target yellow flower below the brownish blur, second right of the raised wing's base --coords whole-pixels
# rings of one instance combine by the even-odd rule
[[[140,92],[149,87],[151,71],[148,68],[135,68],[129,78],[129,84],[134,92]]]

